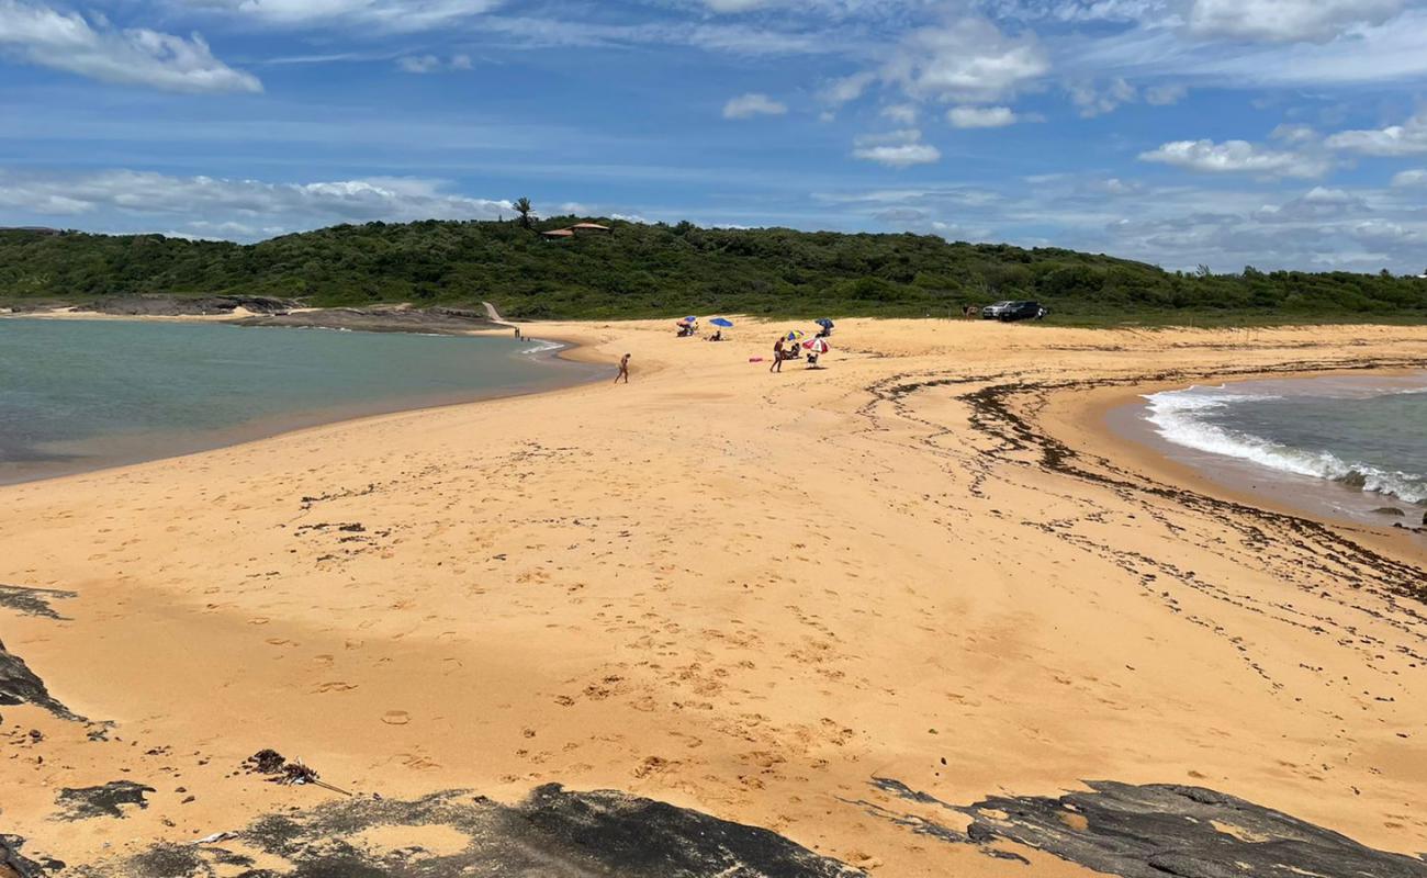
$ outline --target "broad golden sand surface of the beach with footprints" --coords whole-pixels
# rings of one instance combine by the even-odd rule
[[[271,747],[384,797],[626,789],[890,875],[1090,872],[872,817],[933,815],[873,777],[1197,784],[1427,851],[1427,537],[1170,487],[1099,423],[1132,384],[1421,368],[1427,330],[848,320],[771,375],[753,321],[524,328],[634,381],[0,488],[0,582],[77,592],[0,640],[117,724],[0,708],[0,831],[84,862],[335,795],[233,777]],[[113,779],[157,792],[50,819]]]

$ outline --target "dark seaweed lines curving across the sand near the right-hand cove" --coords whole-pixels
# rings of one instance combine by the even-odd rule
[[[1169,500],[1173,508],[1197,514],[1209,521],[1220,523],[1232,531],[1240,534],[1241,543],[1253,555],[1250,562],[1259,565],[1264,572],[1273,575],[1299,590],[1313,590],[1323,597],[1321,584],[1313,584],[1303,578],[1304,572],[1317,572],[1341,581],[1351,590],[1337,590],[1331,598],[1346,607],[1374,617],[1401,634],[1408,641],[1423,641],[1423,615],[1417,604],[1423,601],[1424,588],[1420,585],[1424,578],[1421,570],[1411,564],[1404,564],[1394,558],[1384,557],[1351,538],[1337,533],[1334,528],[1284,513],[1273,513],[1257,507],[1220,500],[1199,494],[1196,491],[1167,485],[1147,478],[1139,473],[1124,470],[1103,457],[1082,454],[1067,447],[1055,437],[1046,435],[1033,414],[1022,414],[1019,405],[1023,401],[1032,408],[1043,405],[1049,394],[1072,390],[1090,390],[1106,385],[1134,385],[1154,381],[1194,381],[1207,377],[1227,375],[1263,375],[1270,373],[1300,373],[1300,371],[1331,371],[1331,370],[1370,370],[1370,368],[1421,368],[1427,365],[1423,360],[1373,360],[1373,361],[1297,361],[1279,367],[1256,368],[1222,368],[1222,370],[1166,370],[1160,373],[1132,374],[1124,377],[1110,377],[1099,380],[1067,380],[1043,381],[1027,378],[1026,373],[1002,374],[946,374],[946,373],[905,373],[885,378],[868,391],[872,398],[859,410],[866,423],[866,433],[885,431],[880,424],[878,407],[889,404],[899,418],[920,424],[926,433],[918,438],[929,451],[940,457],[958,457],[962,467],[970,473],[970,494],[986,500],[985,484],[997,478],[999,464],[1013,464],[1019,467],[1037,467],[1047,473],[1066,475],[1070,478],[1093,483],[1109,488],[1139,511],[1159,523],[1167,531],[1182,533],[1184,527],[1170,520],[1166,510],[1153,500]],[[950,433],[949,427],[922,417],[912,405],[910,397],[928,388],[979,385],[977,390],[963,393],[955,398],[970,408],[970,424],[982,435],[992,440],[993,447],[980,450],[965,457],[958,455],[938,444],[938,438]],[[1030,453],[1035,460],[1027,460]],[[962,445],[965,454],[965,445]],[[1099,471],[1090,467],[1097,467]],[[932,500],[930,495],[925,497]],[[1065,500],[1073,500],[1065,497]],[[968,508],[958,508],[945,500],[936,501],[939,505],[955,508],[962,514],[972,513]],[[992,515],[1016,521],[999,510],[990,510]],[[1082,515],[1087,521],[1102,520],[1104,511]],[[1133,517],[1133,515],[1132,515]],[[1333,635],[1343,645],[1351,645],[1364,651],[1368,665],[1376,667],[1376,652],[1390,648],[1411,661],[1427,664],[1427,655],[1421,650],[1406,642],[1386,644],[1380,638],[1360,631],[1356,625],[1336,621],[1327,615],[1309,612],[1294,607],[1290,601],[1257,601],[1247,595],[1234,594],[1227,585],[1214,584],[1199,577],[1192,570],[1183,570],[1174,564],[1127,551],[1122,547],[1109,545],[1075,534],[1070,528],[1075,520],[1065,521],[1035,521],[1020,520],[1019,524],[1033,527],[1043,533],[1062,538],[1082,551],[1097,554],[1102,558],[1119,565],[1137,577],[1147,597],[1166,605],[1170,612],[1179,614],[1186,621],[1212,630],[1224,637],[1239,652],[1244,664],[1261,677],[1273,690],[1281,690],[1283,684],[1274,681],[1264,667],[1256,661],[1243,637],[1236,637],[1224,625],[1213,618],[1186,612],[1183,605],[1164,588],[1166,582],[1177,582],[1186,588],[1197,591],[1214,601],[1223,601],[1240,610],[1256,612],[1284,624],[1307,628],[1314,634]],[[1202,545],[1219,550],[1216,545]],[[1274,554],[1277,557],[1274,557]],[[1364,607],[1353,600],[1353,591],[1363,590],[1380,598],[1390,607],[1390,612],[1381,612],[1374,607]],[[1398,598],[1408,598],[1404,604]],[[1321,670],[1319,670],[1321,671]]]

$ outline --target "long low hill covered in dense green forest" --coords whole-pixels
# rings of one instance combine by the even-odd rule
[[[1057,320],[1427,320],[1427,281],[1388,274],[1166,273],[1070,250],[608,223],[545,240],[505,221],[337,226],[260,244],[0,231],[0,300],[144,293],[298,297],[313,306],[495,303],[518,318],[946,316],[1039,298]],[[1212,254],[1206,257],[1212,261]]]

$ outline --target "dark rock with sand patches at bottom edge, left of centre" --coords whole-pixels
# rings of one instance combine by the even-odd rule
[[[374,849],[358,835],[381,827],[432,828],[457,839],[428,851],[418,844]],[[385,834],[388,838],[400,835]],[[307,812],[264,817],[210,844],[160,844],[118,862],[78,869],[88,878],[197,878],[215,865],[235,878],[267,878],[238,842],[284,861],[283,874],[348,878],[865,878],[756,827],[624,792],[571,792],[548,784],[515,807],[447,791],[401,802],[347,799]]]

